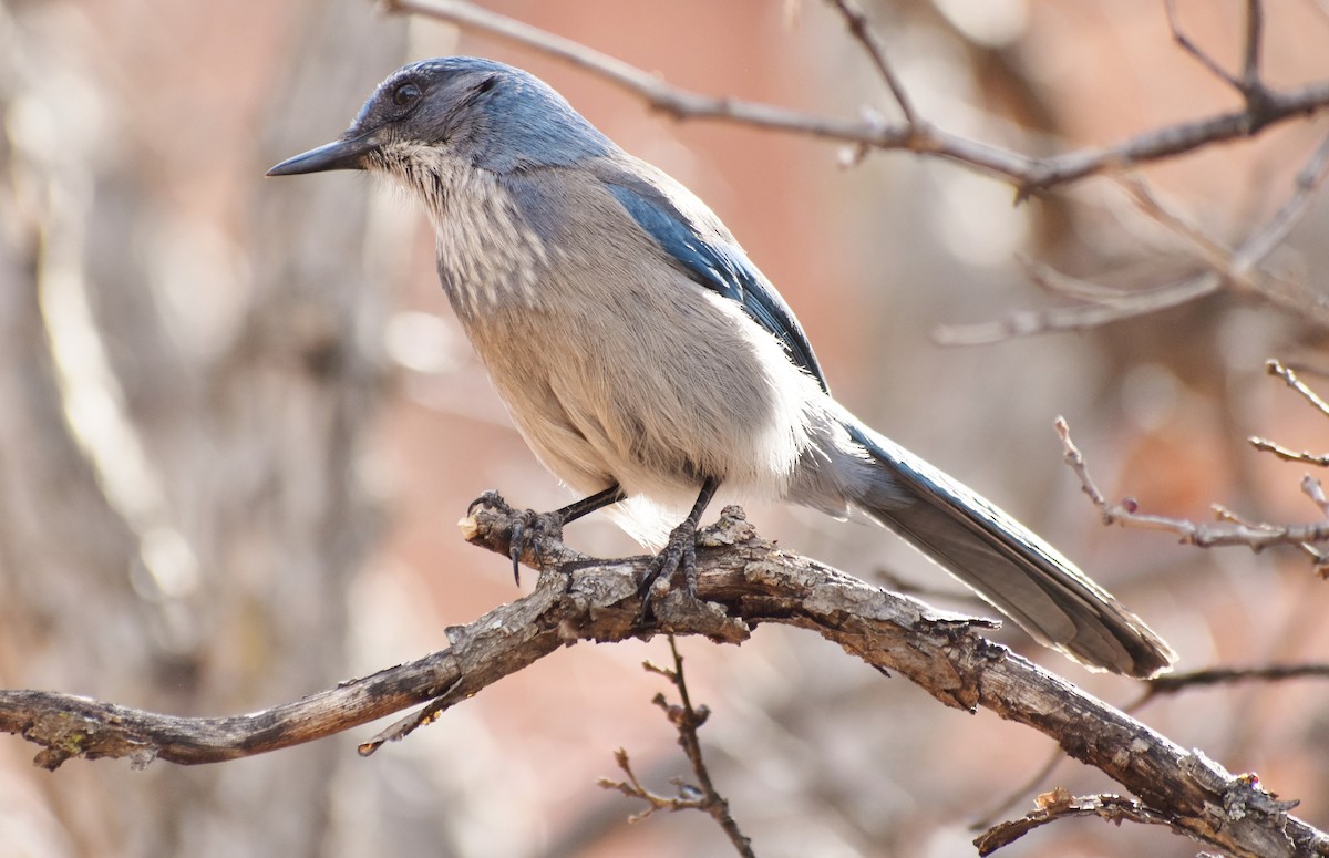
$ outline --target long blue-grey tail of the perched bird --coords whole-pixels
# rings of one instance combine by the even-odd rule
[[[1140,618],[1014,518],[889,438],[847,428],[882,469],[856,506],[1039,643],[1086,667],[1138,677],[1176,660]]]

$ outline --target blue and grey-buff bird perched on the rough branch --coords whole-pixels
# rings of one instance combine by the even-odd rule
[[[536,76],[481,57],[405,65],[334,142],[267,174],[327,170],[380,174],[423,205],[443,288],[512,421],[583,495],[537,529],[607,507],[658,550],[650,582],[695,576],[722,489],[859,511],[1084,667],[1171,669],[1168,644],[1055,549],[837,402],[720,219]]]

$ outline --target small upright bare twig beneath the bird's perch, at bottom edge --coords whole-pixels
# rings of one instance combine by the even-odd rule
[[[678,730],[678,744],[683,746],[683,753],[687,754],[687,761],[696,776],[696,785],[674,778],[671,784],[678,788],[676,796],[653,793],[633,774],[627,752],[622,748],[614,752],[614,760],[618,768],[627,776],[627,780],[614,781],[601,778],[598,784],[605,789],[618,790],[630,798],[641,798],[647,802],[647,809],[635,814],[633,817],[634,821],[643,819],[657,810],[704,810],[724,830],[724,834],[740,855],[755,858],[752,842],[743,834],[738,822],[730,814],[730,802],[715,789],[711,773],[706,768],[706,758],[702,756],[702,742],[696,736],[696,730],[706,723],[711,712],[704,705],[692,707],[692,700],[687,693],[687,679],[683,676],[683,656],[678,652],[678,643],[674,640],[674,635],[668,636],[668,648],[674,655],[672,669],[657,667],[650,661],[643,667],[651,673],[663,676],[678,689],[678,705],[670,704],[664,695],[655,695],[651,703],[663,709],[670,724]]]

